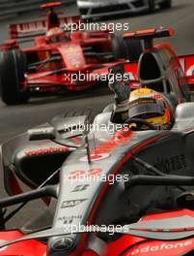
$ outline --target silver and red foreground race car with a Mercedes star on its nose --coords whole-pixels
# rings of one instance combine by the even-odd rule
[[[90,132],[86,115],[63,114],[2,145],[10,197],[0,200],[0,208],[19,206],[2,214],[1,223],[31,200],[42,198],[49,207],[20,230],[2,227],[0,255],[194,254],[194,103],[187,87],[193,76],[185,77],[170,46],[152,45],[153,38],[172,34],[160,28],[125,35],[144,39],[138,79],[158,85],[143,107],[155,113],[161,106],[156,109],[153,100],[165,98],[163,108],[174,114],[171,129],[128,117],[124,130],[106,108]],[[193,59],[181,57],[186,74],[192,75]],[[126,68],[136,74],[133,64]],[[141,96],[141,89],[135,91]],[[148,127],[134,131],[129,123]],[[34,190],[22,193],[18,180]]]

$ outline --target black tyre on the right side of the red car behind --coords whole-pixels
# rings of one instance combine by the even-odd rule
[[[115,59],[127,58],[130,61],[138,61],[143,48],[139,40],[124,40],[123,37],[115,35],[112,38],[112,51]]]

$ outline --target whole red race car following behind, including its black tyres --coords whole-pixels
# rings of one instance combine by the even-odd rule
[[[11,40],[2,45],[0,57],[1,97],[6,104],[25,103],[31,92],[85,90],[106,81],[114,63],[124,57],[134,61],[141,54],[138,42],[114,36],[111,30],[83,31],[79,16],[59,17],[53,11],[59,5],[42,5],[50,8],[47,21],[10,25]],[[73,25],[77,31],[70,30]],[[32,38],[35,46],[19,47]]]

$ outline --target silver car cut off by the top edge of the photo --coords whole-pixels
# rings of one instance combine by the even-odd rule
[[[153,12],[157,7],[171,8],[172,0],[77,0],[82,18],[127,13]]]

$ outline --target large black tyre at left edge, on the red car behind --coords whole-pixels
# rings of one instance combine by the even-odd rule
[[[19,50],[8,50],[0,56],[0,91],[7,105],[22,104],[29,100],[29,93],[22,89],[27,70],[25,53]]]

